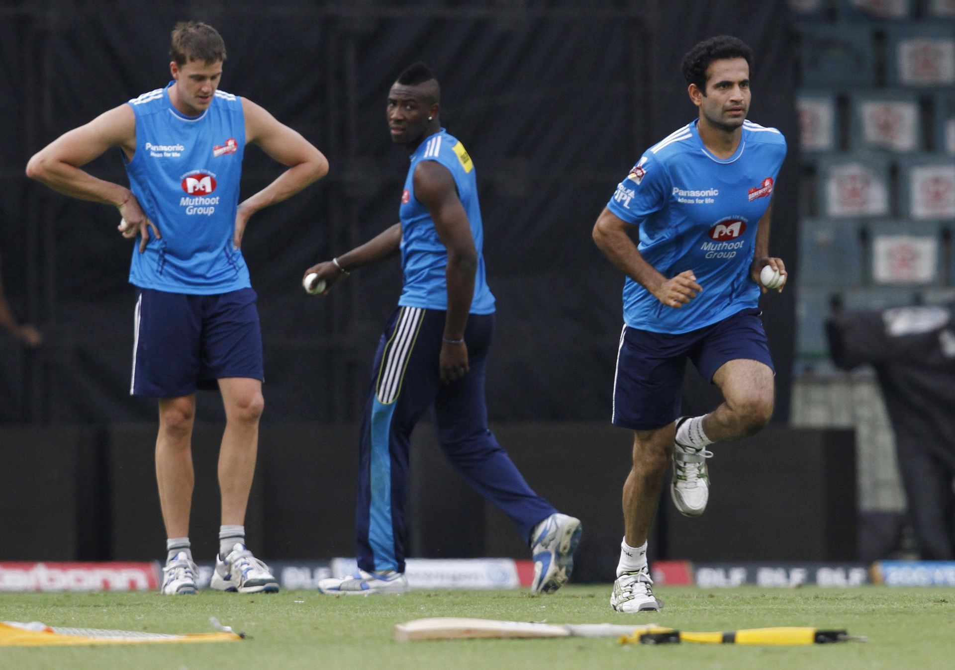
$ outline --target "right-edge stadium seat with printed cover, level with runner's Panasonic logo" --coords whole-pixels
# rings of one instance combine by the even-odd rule
[[[913,220],[955,220],[955,160],[923,154],[899,159],[900,210]]]

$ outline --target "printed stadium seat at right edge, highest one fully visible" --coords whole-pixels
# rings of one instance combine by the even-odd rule
[[[888,82],[902,86],[955,85],[955,31],[944,22],[886,29]]]

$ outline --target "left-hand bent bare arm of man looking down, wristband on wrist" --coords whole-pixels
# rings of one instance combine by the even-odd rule
[[[131,159],[136,153],[136,114],[129,105],[119,105],[54,139],[27,163],[27,177],[66,196],[114,205],[125,221],[120,224],[119,232],[125,238],[139,235],[141,252],[149,241],[150,227],[157,238],[161,236],[139,207],[133,192],[80,169],[117,146],[122,147],[127,158]]]

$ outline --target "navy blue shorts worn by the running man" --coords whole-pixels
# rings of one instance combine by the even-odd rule
[[[773,367],[758,309],[689,333],[670,335],[624,326],[613,382],[613,423],[634,430],[667,426],[680,416],[687,359],[712,382],[727,361],[750,359]]]

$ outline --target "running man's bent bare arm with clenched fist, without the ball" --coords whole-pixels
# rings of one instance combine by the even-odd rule
[[[636,244],[626,234],[631,227],[630,223],[605,208],[593,230],[594,242],[627,277],[669,307],[682,307],[703,290],[700,284],[696,283],[692,270],[685,270],[669,280],[660,274],[644,259]]]

